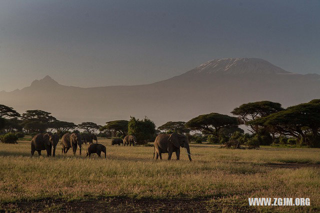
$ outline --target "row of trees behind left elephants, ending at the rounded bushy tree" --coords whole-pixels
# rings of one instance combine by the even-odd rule
[[[43,132],[56,132],[60,137],[68,132],[96,133],[101,137],[121,137],[127,134],[136,135],[140,143],[152,140],[158,132],[153,121],[145,117],[130,120],[113,120],[106,122],[106,125],[98,125],[94,122],[73,122],[61,121],[43,110],[26,110],[19,114],[12,107],[0,104],[0,140],[2,142],[14,143],[19,137],[25,134],[35,135]]]

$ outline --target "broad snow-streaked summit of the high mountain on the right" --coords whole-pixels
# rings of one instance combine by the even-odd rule
[[[290,73],[260,58],[212,59],[190,70],[192,73],[278,74]]]

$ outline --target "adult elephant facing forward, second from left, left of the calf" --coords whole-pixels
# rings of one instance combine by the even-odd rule
[[[66,153],[70,147],[72,147],[73,154],[75,154],[76,146],[79,147],[79,153],[81,155],[82,140],[81,135],[77,133],[65,133],[61,140],[62,153]]]

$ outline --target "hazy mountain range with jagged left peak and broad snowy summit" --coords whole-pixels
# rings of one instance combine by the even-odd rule
[[[50,76],[0,92],[0,104],[19,112],[42,109],[60,120],[104,124],[148,116],[157,125],[203,113],[228,114],[241,103],[271,100],[284,107],[319,98],[320,75],[288,72],[259,58],[207,61],[172,78],[144,85],[81,88]]]

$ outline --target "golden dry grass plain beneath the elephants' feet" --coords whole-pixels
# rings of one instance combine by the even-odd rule
[[[106,145],[107,158],[0,144],[0,210],[320,211],[320,149],[190,144],[192,162],[152,160],[153,147]],[[84,149],[87,145],[83,144]],[[310,206],[249,206],[248,197],[309,197]],[[163,204],[164,203],[164,204]]]

